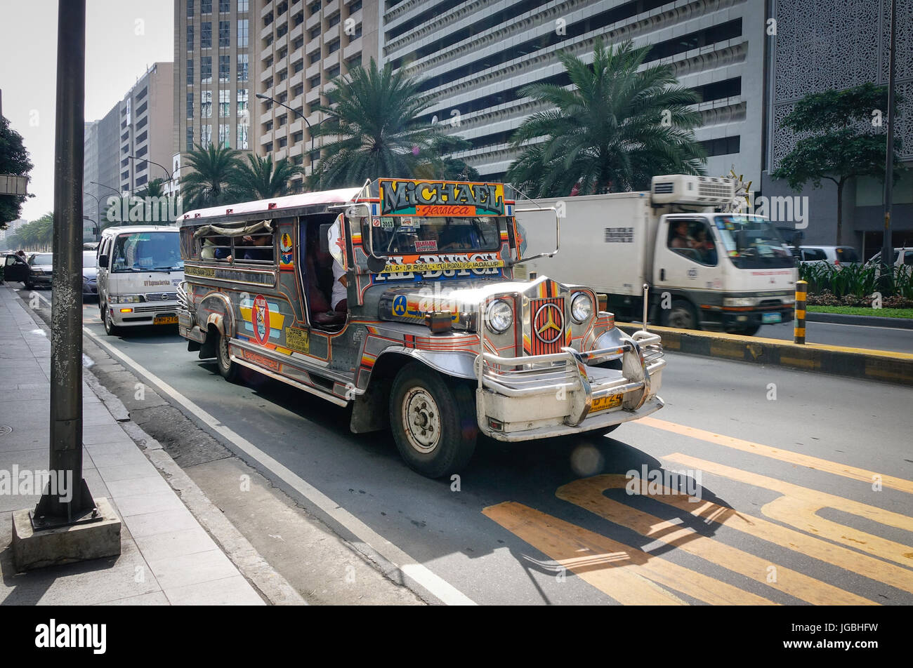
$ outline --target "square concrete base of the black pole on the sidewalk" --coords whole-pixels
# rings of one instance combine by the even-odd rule
[[[106,498],[93,499],[101,519],[70,527],[32,528],[28,509],[13,513],[13,560],[19,571],[121,554],[121,518]]]

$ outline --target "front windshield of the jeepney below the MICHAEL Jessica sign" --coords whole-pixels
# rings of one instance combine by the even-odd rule
[[[373,216],[363,219],[365,237],[368,224],[379,256],[497,250],[500,244],[494,216]]]

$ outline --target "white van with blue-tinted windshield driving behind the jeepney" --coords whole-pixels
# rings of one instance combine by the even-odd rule
[[[97,266],[107,334],[141,325],[177,325],[177,287],[184,281],[177,227],[109,227],[101,233]]]

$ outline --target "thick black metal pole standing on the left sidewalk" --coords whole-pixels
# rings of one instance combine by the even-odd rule
[[[82,479],[82,159],[86,1],[58,0],[54,151],[54,297],[51,306],[50,465],[72,489],[48,484],[37,526],[72,522],[93,506]],[[55,493],[52,494],[51,492]],[[84,496],[89,496],[85,498]]]

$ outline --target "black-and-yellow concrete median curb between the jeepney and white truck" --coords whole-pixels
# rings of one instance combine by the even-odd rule
[[[631,334],[639,325],[615,323]],[[719,360],[771,364],[798,371],[815,371],[869,381],[913,385],[913,354],[822,343],[803,345],[781,339],[761,339],[738,334],[649,327],[663,339],[663,350],[701,355]]]

